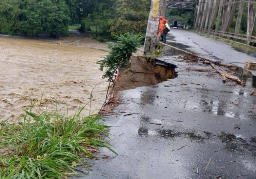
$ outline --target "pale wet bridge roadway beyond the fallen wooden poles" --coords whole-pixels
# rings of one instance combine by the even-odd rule
[[[256,50],[254,53],[246,54],[224,42],[200,36],[188,30],[172,28],[169,34],[169,44],[176,47],[182,44],[181,48],[186,48],[190,52],[240,67],[244,67],[245,61],[256,62]],[[251,72],[256,75],[256,70],[251,70]]]

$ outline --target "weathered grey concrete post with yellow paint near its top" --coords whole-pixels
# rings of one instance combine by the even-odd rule
[[[147,53],[153,53],[156,50],[156,43],[159,40],[157,36],[159,28],[159,18],[162,15],[164,2],[166,3],[166,0],[151,0],[148,27],[144,43],[144,55],[146,55]]]

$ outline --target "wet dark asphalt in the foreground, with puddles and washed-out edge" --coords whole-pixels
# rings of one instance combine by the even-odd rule
[[[246,87],[223,84],[209,66],[171,54],[178,52],[161,59],[178,66],[178,77],[121,92],[123,102],[106,116],[118,155],[101,148],[98,155],[111,157],[92,160],[91,173],[81,179],[256,178],[253,76]]]

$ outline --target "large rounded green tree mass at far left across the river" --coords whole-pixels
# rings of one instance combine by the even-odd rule
[[[70,21],[64,0],[1,0],[0,32],[3,34],[64,36]]]

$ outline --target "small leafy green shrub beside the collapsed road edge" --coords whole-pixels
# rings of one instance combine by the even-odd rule
[[[107,68],[102,78],[108,78],[109,81],[113,80],[118,68],[130,65],[130,56],[137,51],[141,41],[140,36],[129,33],[120,35],[117,39],[117,43],[108,42],[109,54],[103,60],[98,61],[100,70]]]

